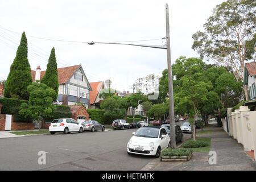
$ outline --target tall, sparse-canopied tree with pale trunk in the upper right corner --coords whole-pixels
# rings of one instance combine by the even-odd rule
[[[254,0],[222,2],[204,24],[205,31],[192,36],[192,48],[201,59],[231,67],[237,81],[243,81],[245,60],[255,58],[255,52],[250,51],[254,47],[250,41],[255,35],[255,6]],[[243,90],[249,100],[247,85]]]

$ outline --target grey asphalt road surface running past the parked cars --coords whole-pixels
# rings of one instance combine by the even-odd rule
[[[135,131],[1,138],[0,170],[139,170],[154,158],[127,155],[126,144]],[[46,152],[46,164],[38,164],[39,151]]]

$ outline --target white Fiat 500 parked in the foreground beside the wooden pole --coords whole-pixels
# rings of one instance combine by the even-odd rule
[[[141,127],[127,143],[128,154],[153,155],[159,158],[161,151],[170,147],[170,137],[161,126]]]

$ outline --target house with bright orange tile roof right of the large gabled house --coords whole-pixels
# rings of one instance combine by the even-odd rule
[[[92,90],[90,91],[90,109],[100,109],[100,104],[103,101],[100,98],[101,90],[105,89],[104,81],[90,82]]]

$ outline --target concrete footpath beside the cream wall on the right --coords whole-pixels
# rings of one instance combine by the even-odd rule
[[[160,162],[154,159],[141,170],[152,171],[255,171],[256,162],[246,154],[243,146],[236,139],[229,137],[222,127],[216,124],[210,129],[211,134],[198,135],[197,137],[211,138],[211,151],[217,154],[217,164],[210,165],[209,152],[193,152],[188,162]]]

